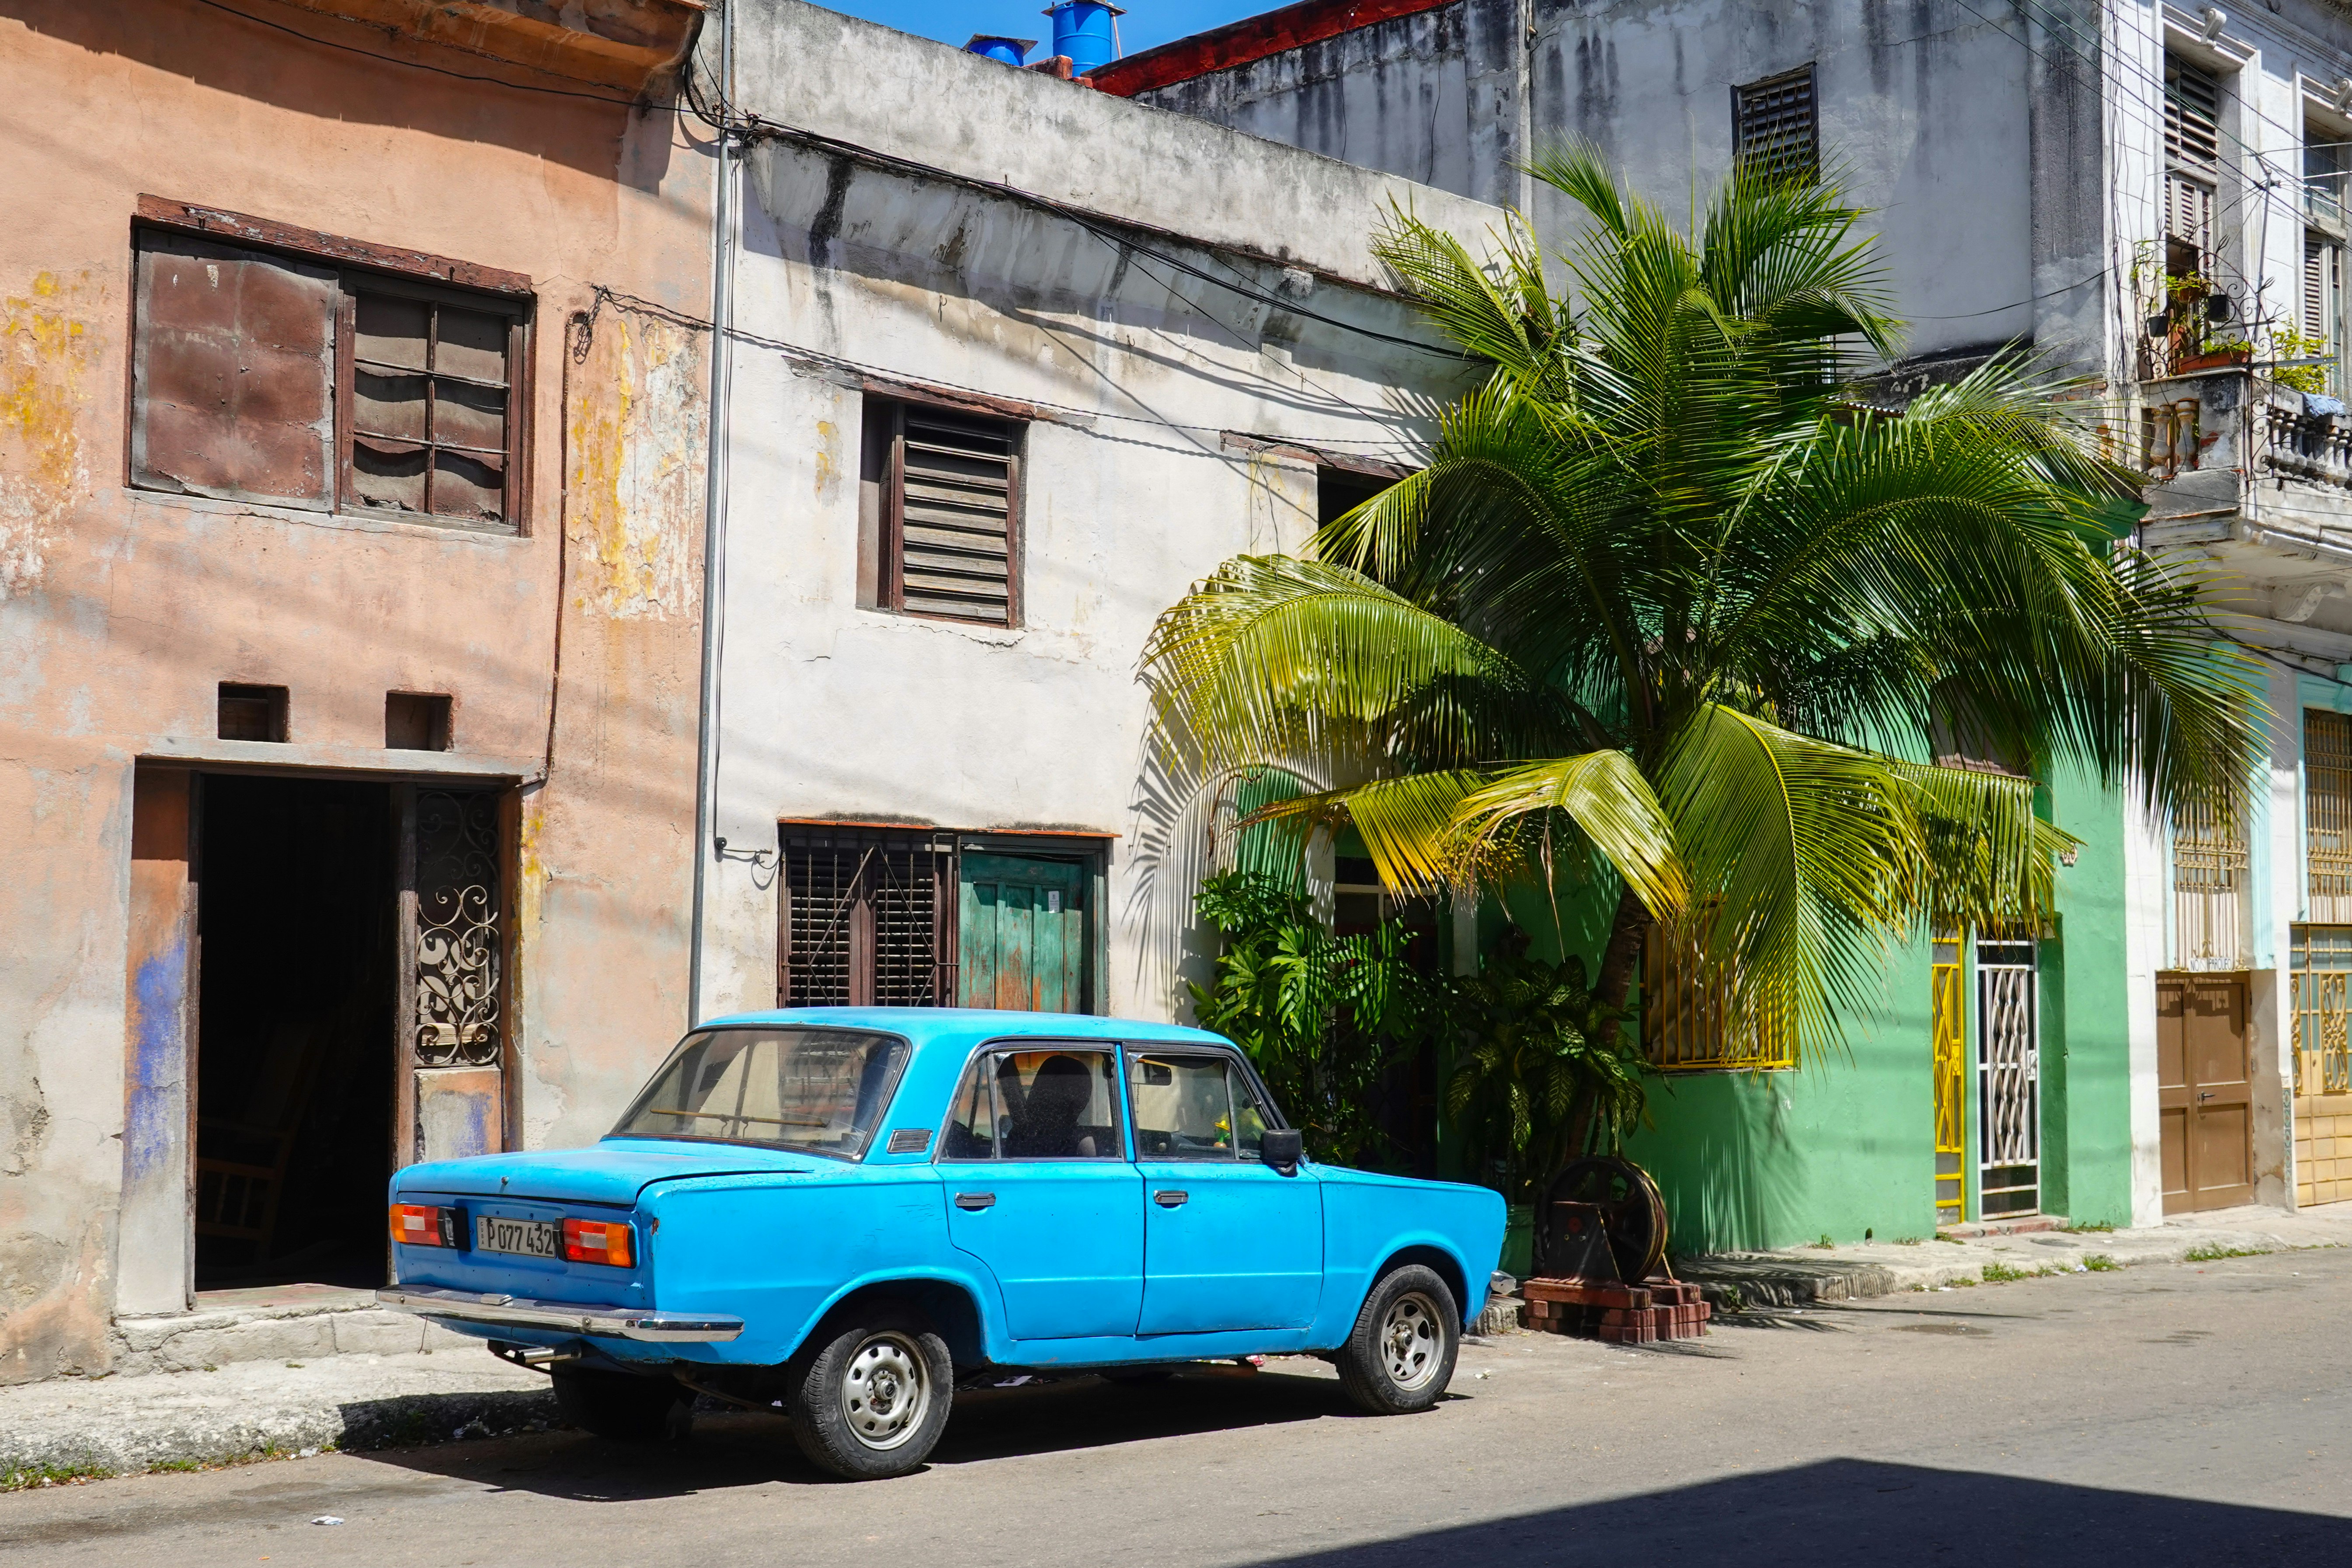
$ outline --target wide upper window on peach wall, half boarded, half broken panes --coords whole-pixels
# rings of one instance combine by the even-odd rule
[[[132,484],[515,531],[527,303],[139,230]]]

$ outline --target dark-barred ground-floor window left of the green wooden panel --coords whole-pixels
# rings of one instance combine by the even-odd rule
[[[786,830],[781,1006],[943,1006],[955,973],[955,839]]]

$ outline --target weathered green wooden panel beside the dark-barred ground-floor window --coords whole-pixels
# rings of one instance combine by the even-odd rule
[[[1087,867],[964,856],[957,917],[962,1006],[1087,1011]]]

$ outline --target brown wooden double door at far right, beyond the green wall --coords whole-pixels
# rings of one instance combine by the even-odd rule
[[[2246,976],[2157,976],[2164,1213],[2253,1201]]]

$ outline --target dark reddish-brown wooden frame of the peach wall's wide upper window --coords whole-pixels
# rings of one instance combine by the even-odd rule
[[[332,461],[332,496],[325,508],[329,517],[343,520],[369,520],[369,522],[409,522],[419,527],[456,529],[461,534],[489,534],[489,536],[517,536],[527,538],[532,534],[532,407],[536,402],[536,376],[534,376],[534,322],[536,322],[536,294],[532,280],[524,273],[510,273],[506,268],[477,266],[470,261],[456,261],[449,256],[435,256],[428,252],[400,249],[390,244],[374,244],[367,240],[346,240],[341,235],[327,235],[320,230],[296,228],[292,223],[278,223],[273,219],[256,219],[240,212],[226,212],[219,207],[200,207],[193,202],[172,202],[158,195],[141,195],[134,219],[132,219],[132,287],[129,287],[129,313],[132,313],[132,346],[134,353],[127,355],[129,364],[136,367],[136,343],[139,343],[139,237],[146,230],[198,235],[216,244],[235,244],[242,249],[275,254],[287,259],[299,259],[308,263],[325,263],[336,273],[336,306],[334,306],[334,461]],[[350,475],[350,449],[355,437],[355,414],[353,414],[353,390],[355,390],[355,336],[358,336],[358,296],[360,294],[388,294],[400,299],[416,299],[435,306],[454,306],[461,310],[473,310],[480,315],[503,315],[506,327],[506,484],[501,489],[501,512],[496,524],[452,517],[442,512],[409,512],[390,508],[372,508],[358,501],[353,491]],[[430,388],[430,371],[426,371]],[[428,390],[430,409],[430,390]],[[139,428],[139,388],[134,369],[125,371],[125,430]],[[430,423],[428,423],[430,430]],[[442,442],[419,442],[426,447],[426,496],[430,501],[430,454],[442,447]],[[122,482],[129,489],[146,491],[134,482],[129,473],[132,442],[122,442]],[[158,491],[172,494],[172,491]],[[256,503],[266,505],[266,503]]]

